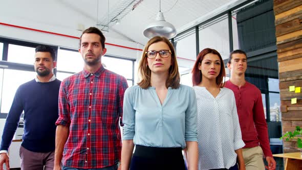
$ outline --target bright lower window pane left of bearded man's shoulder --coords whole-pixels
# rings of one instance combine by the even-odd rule
[[[1,113],[8,113],[18,87],[36,76],[35,72],[4,69]]]

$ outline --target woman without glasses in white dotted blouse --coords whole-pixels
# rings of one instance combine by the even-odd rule
[[[192,69],[198,113],[198,169],[245,169],[245,145],[239,125],[236,101],[224,87],[224,62],[218,51],[204,49]]]

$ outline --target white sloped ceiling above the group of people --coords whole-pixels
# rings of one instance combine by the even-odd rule
[[[119,8],[124,0],[53,0],[2,1],[0,22],[57,33],[80,35],[79,29],[96,26]],[[179,31],[188,29],[220,10],[246,0],[162,0],[161,11],[167,22]],[[121,7],[124,8],[124,7]],[[137,7],[112,25],[106,36],[144,45],[144,28],[155,20],[159,0],[142,0]],[[216,13],[215,13],[216,12]],[[97,22],[98,19],[98,22]],[[23,21],[23,22],[22,22]],[[15,23],[18,22],[18,23]],[[32,24],[35,23],[35,24]],[[101,27],[99,27],[101,29]]]

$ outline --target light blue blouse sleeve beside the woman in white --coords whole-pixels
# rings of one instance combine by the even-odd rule
[[[197,141],[197,103],[194,90],[189,90],[189,104],[185,117],[185,141]]]

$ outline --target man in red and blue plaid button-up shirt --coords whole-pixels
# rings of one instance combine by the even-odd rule
[[[60,86],[54,170],[117,169],[127,81],[103,68],[105,37],[99,29],[83,31],[79,52],[83,71]]]

